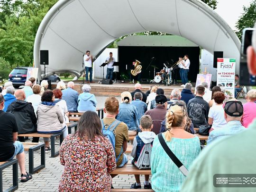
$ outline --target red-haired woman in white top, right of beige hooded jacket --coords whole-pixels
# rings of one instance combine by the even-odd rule
[[[60,106],[60,108],[62,109],[62,114],[64,117],[64,124],[69,123],[69,111],[67,109],[67,103],[65,100],[62,99],[62,92],[60,89],[54,89],[53,90],[54,96],[55,96],[55,105]]]

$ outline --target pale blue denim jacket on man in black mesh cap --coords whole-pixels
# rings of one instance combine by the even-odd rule
[[[229,121],[225,127],[214,129],[210,132],[209,138],[207,140],[207,144],[211,143],[212,141],[224,137],[228,137],[230,135],[235,135],[240,133],[241,131],[246,130],[246,128],[241,125],[241,122],[238,120]]]

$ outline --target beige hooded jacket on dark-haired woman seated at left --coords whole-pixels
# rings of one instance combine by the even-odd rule
[[[54,102],[42,102],[37,107],[37,132],[39,134],[54,134],[61,132],[63,127],[63,114],[60,106]]]

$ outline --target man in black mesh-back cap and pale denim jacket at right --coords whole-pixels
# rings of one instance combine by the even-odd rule
[[[216,93],[214,94],[216,95]],[[241,118],[243,115],[243,105],[236,99],[231,99],[225,103],[224,106],[224,118],[226,119],[227,125],[221,129],[214,129],[210,132],[207,144],[212,141],[230,135],[235,135],[245,130],[245,127],[241,125]]]

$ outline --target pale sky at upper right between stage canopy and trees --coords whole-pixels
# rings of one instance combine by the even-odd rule
[[[243,12],[243,6],[248,7],[252,0],[217,0],[215,11],[222,17],[233,30],[237,30],[235,25],[239,16]]]

